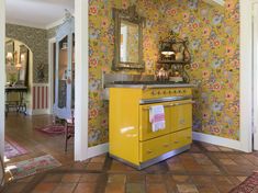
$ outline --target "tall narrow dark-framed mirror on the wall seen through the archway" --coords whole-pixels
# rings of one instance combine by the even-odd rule
[[[21,84],[27,86],[29,83],[29,59],[30,50],[25,45],[20,46],[20,64],[18,81]]]

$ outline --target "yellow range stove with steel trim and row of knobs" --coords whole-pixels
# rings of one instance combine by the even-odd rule
[[[192,143],[191,84],[110,87],[110,156],[137,169],[178,155]],[[153,132],[149,109],[162,105],[165,128]]]

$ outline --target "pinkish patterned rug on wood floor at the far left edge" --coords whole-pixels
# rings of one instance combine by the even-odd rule
[[[5,137],[4,141],[4,156],[10,159],[18,156],[27,154],[27,150],[21,147],[18,143]]]

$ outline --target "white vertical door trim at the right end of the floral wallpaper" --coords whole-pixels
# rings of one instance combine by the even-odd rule
[[[251,0],[240,0],[240,130],[242,150],[250,152],[253,130]]]

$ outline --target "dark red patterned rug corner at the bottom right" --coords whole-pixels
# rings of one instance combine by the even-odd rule
[[[254,172],[238,186],[233,189],[229,193],[257,193],[258,192],[258,172]]]

